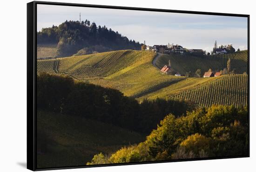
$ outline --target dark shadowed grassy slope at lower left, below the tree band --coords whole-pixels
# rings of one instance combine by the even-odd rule
[[[49,138],[47,153],[38,154],[39,168],[85,165],[94,154],[144,140],[141,134],[81,117],[39,111],[37,121]]]

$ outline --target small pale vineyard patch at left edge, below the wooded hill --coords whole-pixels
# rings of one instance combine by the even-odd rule
[[[37,58],[57,57],[57,45],[37,45]]]

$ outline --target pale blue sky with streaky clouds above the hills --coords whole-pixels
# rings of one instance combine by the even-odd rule
[[[146,45],[178,44],[188,49],[212,51],[232,44],[247,49],[247,18],[203,14],[148,12],[77,6],[37,5],[37,31],[66,20],[90,20],[106,25],[129,39]]]

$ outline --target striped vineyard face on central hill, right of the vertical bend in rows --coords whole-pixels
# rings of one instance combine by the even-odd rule
[[[67,71],[80,80],[104,77],[136,63],[144,54],[141,51],[124,50],[59,58],[59,71]]]

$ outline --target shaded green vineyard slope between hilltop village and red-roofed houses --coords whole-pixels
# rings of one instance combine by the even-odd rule
[[[227,61],[231,59],[231,70],[236,70],[236,73],[248,73],[248,54],[247,51],[239,51],[230,54],[211,55],[206,57],[195,57],[191,55],[163,55],[156,60],[156,66],[162,68],[171,60],[172,68],[180,74],[185,75],[186,72],[191,71],[195,73],[197,69],[206,72],[211,68],[214,71],[223,70],[227,68]]]

